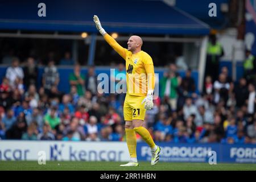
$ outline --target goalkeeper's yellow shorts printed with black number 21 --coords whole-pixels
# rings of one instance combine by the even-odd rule
[[[132,121],[133,119],[141,119],[144,121],[146,109],[144,104],[141,104],[146,96],[131,96],[126,94],[125,102],[123,104],[123,117],[125,121]]]

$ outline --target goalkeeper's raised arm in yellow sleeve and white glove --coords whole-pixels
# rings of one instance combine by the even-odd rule
[[[104,39],[106,40],[106,42],[108,42],[108,44],[115,50],[117,51],[117,53],[123,58],[125,59],[126,57],[126,49],[123,48],[122,46],[120,46],[115,39],[112,38],[112,36],[110,36],[105,30],[104,28],[102,28],[101,26],[101,22],[100,19],[98,19],[97,15],[93,16],[93,20],[96,24],[96,27],[98,29],[98,31],[100,32],[100,34],[102,36],[104,36]]]

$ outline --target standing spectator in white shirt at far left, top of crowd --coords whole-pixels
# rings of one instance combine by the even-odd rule
[[[13,59],[13,63],[11,67],[7,68],[6,78],[9,79],[9,84],[12,88],[15,88],[15,80],[18,78],[19,80],[23,80],[24,73],[23,69],[19,67],[19,59],[15,57]]]

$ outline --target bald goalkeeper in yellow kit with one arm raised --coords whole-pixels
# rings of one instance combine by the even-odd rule
[[[128,48],[123,48],[102,28],[98,16],[94,15],[93,20],[106,42],[126,61],[127,93],[123,104],[123,115],[130,162],[120,166],[139,165],[135,132],[141,135],[151,147],[151,165],[154,166],[159,161],[160,147],[156,146],[148,130],[142,126],[146,110],[152,109],[154,106],[155,73],[153,61],[150,55],[141,50],[143,42],[139,36],[131,36],[127,42]]]

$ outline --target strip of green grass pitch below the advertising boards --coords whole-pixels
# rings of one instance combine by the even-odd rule
[[[167,163],[159,162],[151,166],[150,162],[140,162],[138,167],[119,167],[123,162],[53,162],[39,165],[37,161],[0,161],[0,171],[256,171],[256,164],[217,163]]]

